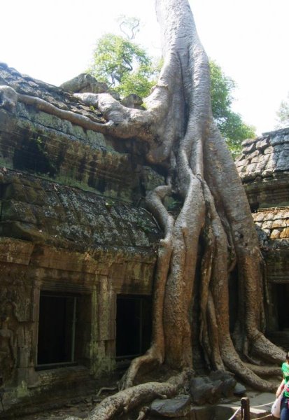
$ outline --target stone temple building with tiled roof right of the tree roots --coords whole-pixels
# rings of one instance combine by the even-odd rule
[[[265,258],[267,333],[272,335],[289,329],[283,311],[289,298],[289,128],[246,140],[243,146],[236,165]]]

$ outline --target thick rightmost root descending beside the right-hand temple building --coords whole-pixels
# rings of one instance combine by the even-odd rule
[[[208,162],[206,181],[214,201],[224,209],[223,213],[230,225],[238,261],[238,349],[243,353],[244,343],[247,341],[251,353],[260,355],[265,360],[280,363],[284,360],[285,353],[269,342],[261,330],[264,319],[260,273],[262,260],[251,210],[234,162],[230,159],[225,143],[213,121],[210,130],[205,151],[205,160]],[[222,172],[220,168],[223,168]],[[224,173],[227,176],[223,176]]]

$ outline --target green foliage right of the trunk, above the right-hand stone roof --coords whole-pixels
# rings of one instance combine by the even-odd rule
[[[234,113],[231,109],[234,80],[225,76],[216,62],[210,62],[210,69],[213,117],[233,157],[236,157],[241,152],[241,141],[255,137],[255,129],[246,125],[239,113]]]

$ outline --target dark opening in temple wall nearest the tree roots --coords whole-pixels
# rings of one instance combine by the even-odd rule
[[[116,315],[116,356],[133,357],[144,353],[150,345],[150,335],[150,299],[119,295]]]

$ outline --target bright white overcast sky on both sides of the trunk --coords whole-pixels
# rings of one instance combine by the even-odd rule
[[[289,1],[189,1],[206,52],[237,83],[234,110],[259,134],[274,130],[289,92]],[[141,18],[137,41],[160,55],[153,0],[2,0],[0,61],[59,85],[85,71],[118,15]]]

